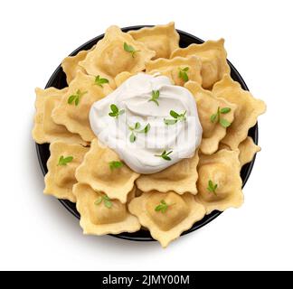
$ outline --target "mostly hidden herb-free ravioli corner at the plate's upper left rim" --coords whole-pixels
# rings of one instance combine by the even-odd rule
[[[87,73],[86,70],[80,66],[80,61],[84,61],[88,53],[94,50],[94,48],[95,46],[93,46],[89,51],[80,51],[74,56],[64,58],[61,63],[61,68],[66,74],[67,84],[71,83],[72,79],[76,77],[78,71]]]

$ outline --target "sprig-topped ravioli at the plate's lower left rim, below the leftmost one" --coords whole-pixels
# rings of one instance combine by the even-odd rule
[[[44,193],[58,199],[76,201],[72,186],[76,183],[75,170],[83,160],[89,148],[80,144],[54,142],[50,144],[48,172],[45,176]]]

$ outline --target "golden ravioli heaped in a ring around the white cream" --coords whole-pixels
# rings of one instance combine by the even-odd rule
[[[33,139],[49,143],[51,153],[44,193],[75,202],[85,234],[143,228],[166,247],[213,210],[241,206],[241,167],[260,151],[248,132],[266,106],[231,78],[223,44],[180,48],[174,23],[128,33],[110,26],[90,51],[62,61],[67,88],[35,90]],[[126,164],[113,169],[110,163],[122,161],[99,144],[89,121],[91,105],[138,72],[159,72],[189,89],[203,126],[194,157],[147,175]],[[212,117],[222,107],[229,107],[222,117],[230,126]]]

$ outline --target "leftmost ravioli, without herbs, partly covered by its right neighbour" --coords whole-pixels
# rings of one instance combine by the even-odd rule
[[[60,140],[72,144],[87,143],[80,135],[72,134],[65,126],[57,125],[52,120],[52,110],[58,106],[68,89],[35,89],[36,100],[33,126],[33,139],[37,144],[52,143]]]

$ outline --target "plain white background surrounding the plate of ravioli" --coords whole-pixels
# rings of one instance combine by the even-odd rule
[[[291,1],[1,1],[0,269],[293,269],[293,41]],[[31,137],[36,86],[110,24],[175,21],[226,39],[229,60],[268,105],[245,203],[162,249],[81,234],[58,200],[43,196]]]

